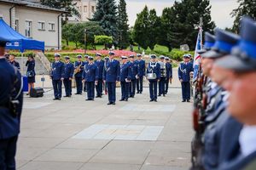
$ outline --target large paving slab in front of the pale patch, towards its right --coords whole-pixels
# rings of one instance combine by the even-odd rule
[[[112,141],[97,153],[90,162],[93,163],[122,163],[143,164],[153,142],[144,141]]]

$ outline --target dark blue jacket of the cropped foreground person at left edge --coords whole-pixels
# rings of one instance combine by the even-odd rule
[[[17,107],[18,115],[12,116],[8,108],[9,97],[15,98],[20,91],[21,76],[20,72],[15,71],[15,68],[9,65],[5,59],[0,59],[0,80],[0,139],[9,139],[20,133],[23,92],[21,89],[21,93],[17,97],[20,102]],[[14,85],[15,81],[18,82]],[[14,88],[15,91],[13,91]]]

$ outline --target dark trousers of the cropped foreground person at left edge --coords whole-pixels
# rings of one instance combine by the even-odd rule
[[[18,136],[0,139],[0,169],[15,170],[15,154]]]

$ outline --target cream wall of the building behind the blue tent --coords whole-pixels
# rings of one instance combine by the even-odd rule
[[[12,4],[0,3],[0,16],[10,26],[9,8]],[[32,38],[44,41],[45,48],[58,48],[58,15],[60,13],[40,8],[26,8],[16,6],[12,9],[12,27],[15,29],[15,20],[19,20],[18,31],[26,36],[26,20],[32,21]],[[40,30],[38,22],[44,22],[44,30]],[[55,30],[49,29],[49,23],[55,24]],[[60,47],[61,47],[61,20],[60,26]]]

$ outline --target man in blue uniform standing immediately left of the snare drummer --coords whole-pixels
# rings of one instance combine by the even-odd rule
[[[143,94],[143,77],[146,72],[146,64],[142,57],[142,54],[137,54],[137,94]]]

